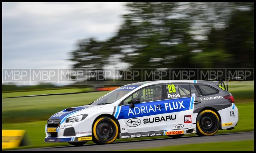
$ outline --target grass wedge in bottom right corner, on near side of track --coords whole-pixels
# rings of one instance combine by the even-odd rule
[[[147,147],[145,149],[129,149],[124,151],[254,151],[254,140],[195,143],[165,147]]]

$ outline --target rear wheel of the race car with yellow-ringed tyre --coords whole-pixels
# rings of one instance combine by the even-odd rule
[[[218,132],[220,119],[212,110],[203,110],[196,118],[196,135],[210,136]]]

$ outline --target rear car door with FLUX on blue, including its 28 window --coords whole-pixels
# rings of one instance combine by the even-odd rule
[[[198,98],[199,94],[193,84],[169,83],[165,84],[166,99],[164,103],[166,116],[173,120],[167,120],[167,130],[190,128],[195,123],[194,108],[204,107],[204,102]],[[192,92],[191,92],[192,91]]]

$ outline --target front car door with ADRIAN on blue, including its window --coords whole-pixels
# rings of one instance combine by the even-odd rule
[[[132,98],[140,98],[139,104],[130,108]],[[151,85],[132,93],[123,101],[121,112],[128,133],[166,130],[163,85]]]

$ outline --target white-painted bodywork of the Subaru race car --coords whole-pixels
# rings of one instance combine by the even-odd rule
[[[113,116],[113,118],[115,117],[116,119],[118,119],[118,117],[120,115],[122,115],[121,108],[123,107],[123,106],[118,106],[118,105],[125,98],[129,97],[131,95],[131,93],[134,93],[135,91],[139,91],[141,88],[144,88],[149,85],[161,84],[161,83],[175,83],[175,82],[177,82],[177,83],[180,83],[180,82],[196,83],[195,80],[167,80],[167,81],[163,80],[163,81],[155,81],[155,82],[148,82],[148,83],[145,82],[146,84],[140,85],[135,90],[129,92],[128,94],[126,94],[125,96],[123,96],[122,98],[120,98],[119,100],[117,100],[116,102],[114,102],[112,104],[92,106],[92,107],[88,107],[88,108],[85,108],[85,109],[82,109],[82,110],[72,113],[68,117],[73,117],[73,116],[77,116],[80,114],[88,114],[88,116],[84,120],[81,120],[78,122],[71,122],[71,123],[66,123],[66,121],[65,121],[66,118],[65,118],[62,121],[62,123],[59,125],[59,128],[57,128],[58,139],[61,140],[63,138],[71,138],[70,141],[65,141],[65,142],[73,142],[73,141],[75,141],[76,137],[92,136],[92,126],[93,126],[93,122],[95,121],[95,119],[102,114],[109,114],[109,115]],[[132,84],[132,85],[136,85],[136,83]],[[118,119],[118,123],[120,125],[119,133],[121,133],[121,135],[123,133],[126,133],[126,134],[127,133],[129,133],[129,134],[141,133],[141,134],[135,134],[136,136],[132,136],[132,137],[142,137],[141,135],[143,135],[143,133],[147,133],[147,132],[155,133],[155,134],[161,133],[161,132],[156,133],[155,131],[163,131],[163,134],[161,133],[161,135],[165,135],[167,131],[183,131],[183,134],[188,134],[187,133],[188,129],[192,129],[192,132],[190,131],[189,133],[196,133],[196,117],[197,117],[198,113],[193,113],[193,111],[194,111],[193,99],[195,97],[194,98],[188,97],[188,98],[191,98],[191,100],[192,100],[191,101],[192,106],[191,107],[189,106],[192,109],[185,110],[185,111],[179,111],[179,112],[173,112],[173,113],[161,113],[161,114],[155,114],[155,115],[149,115],[149,116],[135,117],[141,121],[140,125],[136,126],[136,127],[127,126],[127,121],[129,121],[131,118]],[[179,99],[180,98],[177,98],[177,100],[179,100]],[[166,103],[165,100],[159,100],[159,101]],[[145,103],[148,103],[148,102],[145,102]],[[157,105],[157,101],[155,101],[154,103],[156,103],[156,105]],[[143,104],[143,103],[141,103],[141,104]],[[166,106],[162,106],[162,107],[163,107],[163,109],[169,108]],[[114,109],[115,109],[115,113],[114,113]],[[157,111],[157,109],[155,109],[155,108],[154,108],[154,110]],[[235,116],[230,117],[230,111],[234,111]],[[220,123],[221,129],[227,129],[227,128],[236,126],[236,124],[238,122],[238,109],[234,104],[232,104],[232,106],[230,106],[228,108],[219,110],[218,113],[220,114],[220,118],[221,118],[221,123]],[[175,115],[176,115],[175,120],[166,120],[166,121],[154,122],[154,123],[148,123],[148,124],[143,123],[143,120],[147,119],[147,118],[151,118],[151,119],[155,118],[155,117],[161,118],[162,116],[174,117]],[[184,123],[185,115],[191,115],[191,123]],[[230,124],[224,125],[225,123],[230,123]],[[73,127],[75,129],[76,136],[63,136],[64,130],[66,128],[71,128],[71,127]],[[45,133],[46,133],[45,140],[47,139],[47,142],[51,142],[51,133],[47,132],[47,125],[45,126]],[[148,136],[151,136],[151,134],[149,134]],[[156,136],[156,135],[152,134],[152,136]],[[128,136],[126,136],[126,137],[120,136],[119,138],[128,138]],[[52,142],[59,142],[59,141],[57,139],[56,140],[52,139]]]

